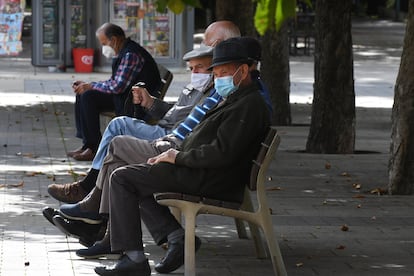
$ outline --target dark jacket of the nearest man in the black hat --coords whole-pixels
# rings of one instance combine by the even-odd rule
[[[175,191],[242,202],[252,160],[270,125],[257,84],[240,88],[206,114],[183,141],[175,164],[153,165],[150,173],[174,181]]]

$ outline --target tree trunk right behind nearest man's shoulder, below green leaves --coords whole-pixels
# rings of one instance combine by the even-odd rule
[[[290,66],[287,25],[279,32],[267,31],[262,39],[261,75],[272,99],[272,124],[290,125]]]

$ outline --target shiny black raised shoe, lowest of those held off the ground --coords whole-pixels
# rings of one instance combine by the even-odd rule
[[[104,224],[87,224],[82,221],[66,219],[60,215],[53,217],[55,226],[64,234],[79,239],[79,243],[86,247],[91,247],[96,241],[103,237],[102,231]]]

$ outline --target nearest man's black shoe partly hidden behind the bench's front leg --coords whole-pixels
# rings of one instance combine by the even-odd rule
[[[195,251],[200,248],[201,240],[195,237]],[[168,250],[164,258],[155,265],[158,273],[170,273],[184,264],[184,238],[177,242],[168,242]]]

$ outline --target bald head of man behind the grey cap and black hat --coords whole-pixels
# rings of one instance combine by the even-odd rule
[[[239,27],[231,21],[216,21],[205,30],[203,42],[207,46],[214,47],[217,43],[232,37],[240,37]]]

